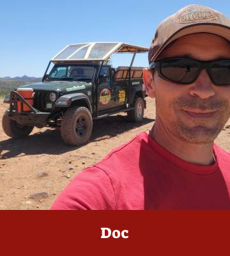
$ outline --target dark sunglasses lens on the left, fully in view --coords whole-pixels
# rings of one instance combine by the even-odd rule
[[[199,63],[193,60],[165,60],[160,67],[162,75],[176,83],[192,83],[199,72]]]

